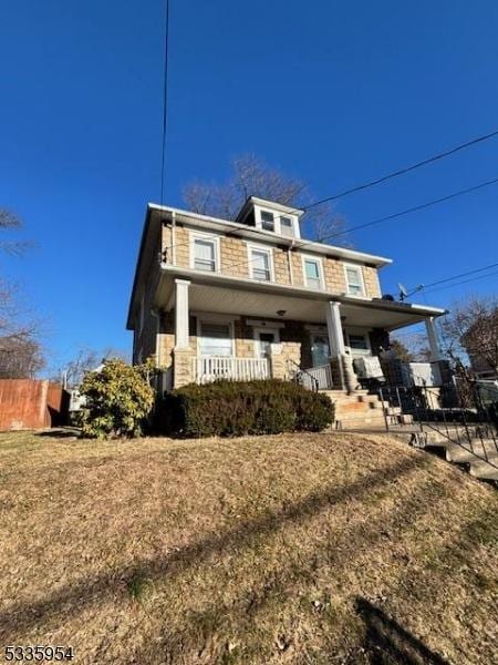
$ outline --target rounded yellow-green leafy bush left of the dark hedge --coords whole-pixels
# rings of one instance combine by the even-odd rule
[[[89,371],[80,387],[86,397],[79,424],[84,437],[137,437],[154,405],[149,385],[152,365],[132,366],[120,359],[105,360]]]

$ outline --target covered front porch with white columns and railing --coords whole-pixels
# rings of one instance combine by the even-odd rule
[[[174,278],[158,289],[157,362],[163,390],[217,379],[299,380],[318,390],[359,387],[353,362],[387,348],[392,330],[425,321],[432,361],[442,360],[434,308],[336,297],[234,290]],[[287,288],[287,291],[289,287]],[[160,297],[162,295],[162,297]]]

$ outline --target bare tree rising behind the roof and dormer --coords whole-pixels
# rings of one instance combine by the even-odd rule
[[[193,182],[184,188],[188,209],[203,215],[235,219],[249,196],[258,196],[303,208],[311,203],[309,187],[300,180],[271,168],[255,155],[241,155],[232,161],[232,173],[221,184]],[[344,218],[331,204],[322,204],[307,212],[302,222],[308,225],[313,239],[345,244],[342,237]]]

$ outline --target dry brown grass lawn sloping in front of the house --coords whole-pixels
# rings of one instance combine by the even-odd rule
[[[382,437],[0,436],[0,648],[498,663],[498,492]]]

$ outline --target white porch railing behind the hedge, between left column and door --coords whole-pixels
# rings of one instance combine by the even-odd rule
[[[252,381],[270,378],[268,358],[225,358],[204,356],[193,359],[196,383],[210,383],[218,379]]]

